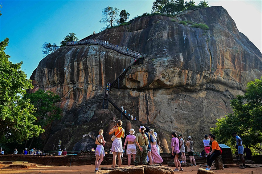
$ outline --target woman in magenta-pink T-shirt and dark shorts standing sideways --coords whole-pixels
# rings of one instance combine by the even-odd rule
[[[179,154],[179,140],[177,137],[177,134],[175,132],[172,132],[172,140],[171,140],[171,148],[172,148],[172,155],[174,156],[174,163],[176,168],[174,171],[179,171],[178,166],[180,167],[180,170],[183,171],[180,161],[178,160],[178,154]]]

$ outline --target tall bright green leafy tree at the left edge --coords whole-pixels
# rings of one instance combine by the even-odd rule
[[[1,143],[21,143],[44,130],[33,124],[36,121],[34,106],[23,99],[26,89],[33,86],[21,70],[23,62],[9,61],[10,56],[4,52],[8,43],[8,38],[0,42],[0,138]]]

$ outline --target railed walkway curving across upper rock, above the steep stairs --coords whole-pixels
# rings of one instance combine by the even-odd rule
[[[82,45],[82,44],[102,45],[106,48],[113,49],[119,53],[132,56],[135,59],[146,56],[146,54],[142,54],[142,53],[133,51],[125,46],[115,45],[115,44],[112,44],[106,41],[102,41],[102,40],[98,40],[98,39],[86,39],[85,41],[71,41],[71,42],[66,43],[66,45]]]

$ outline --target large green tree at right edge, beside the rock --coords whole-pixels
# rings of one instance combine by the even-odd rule
[[[237,96],[231,101],[234,114],[228,114],[216,123],[216,128],[211,128],[212,134],[220,143],[231,147],[235,145],[232,132],[237,132],[243,144],[261,150],[259,144],[262,140],[262,77],[250,81],[244,95]]]

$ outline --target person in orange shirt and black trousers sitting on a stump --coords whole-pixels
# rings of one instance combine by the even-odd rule
[[[212,141],[212,151],[207,154],[206,170],[210,170],[213,161],[220,155],[220,147],[215,140],[215,135],[211,135],[210,140]]]

